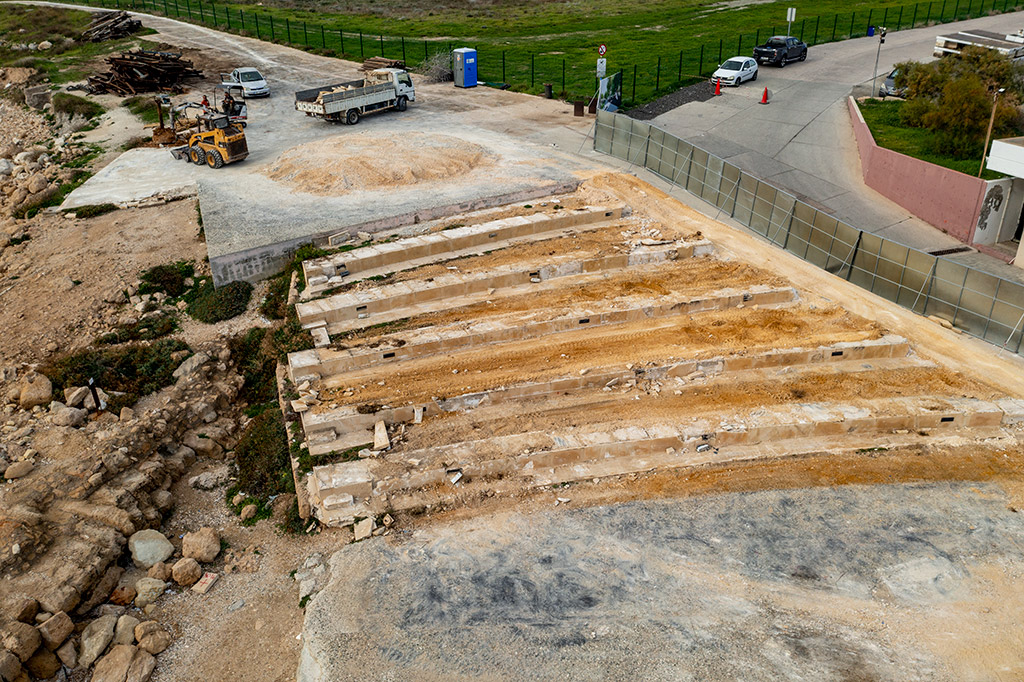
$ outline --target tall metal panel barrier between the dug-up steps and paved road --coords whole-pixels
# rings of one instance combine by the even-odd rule
[[[1024,285],[857,229],[654,126],[600,112],[594,148],[647,168],[775,246],[1020,354]]]

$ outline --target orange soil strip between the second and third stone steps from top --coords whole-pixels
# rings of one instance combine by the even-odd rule
[[[712,258],[688,258],[645,268],[643,271],[612,272],[596,281],[567,285],[555,290],[519,296],[509,296],[497,303],[483,302],[443,310],[414,318],[368,327],[336,337],[333,347],[342,349],[358,345],[376,346],[386,337],[395,342],[400,332],[425,327],[443,327],[488,318],[520,317],[542,322],[566,314],[566,310],[585,308],[588,311],[613,309],[609,303],[625,300],[651,301],[659,296],[687,294],[697,297],[724,288],[741,289],[754,285],[785,287],[788,283],[753,265]],[[625,306],[615,306],[625,307]]]

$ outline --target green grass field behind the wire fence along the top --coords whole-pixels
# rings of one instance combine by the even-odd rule
[[[793,34],[809,44],[912,26],[998,13],[1018,0],[265,0],[217,4],[200,0],[90,0],[184,18],[329,55],[403,58],[413,68],[452,47],[475,47],[479,78],[541,92],[551,83],[568,99],[593,94],[597,46],[608,48],[609,73],[624,72],[630,103],[709,75],[724,58],[749,54],[766,37],[785,33],[785,8],[797,8]]]

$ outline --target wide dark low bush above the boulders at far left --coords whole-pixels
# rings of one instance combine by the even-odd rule
[[[72,386],[85,386],[94,379],[104,391],[120,392],[108,406],[111,411],[132,406],[139,398],[174,383],[172,376],[181,359],[172,353],[187,351],[188,346],[175,339],[163,339],[152,344],[133,344],[118,348],[85,350],[51,360],[40,370],[61,391]]]

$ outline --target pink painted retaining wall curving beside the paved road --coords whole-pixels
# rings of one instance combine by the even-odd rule
[[[987,183],[879,146],[860,115],[857,101],[853,97],[848,101],[864,184],[925,222],[971,244]]]

